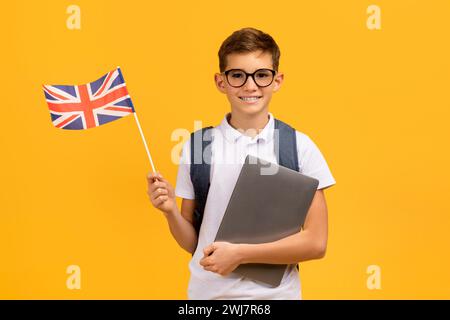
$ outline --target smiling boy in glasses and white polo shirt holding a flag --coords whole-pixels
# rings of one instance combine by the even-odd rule
[[[191,163],[196,163],[191,158],[191,140],[182,149],[175,190],[160,174],[148,175],[153,206],[164,213],[178,244],[193,254],[189,264],[190,299],[301,299],[296,264],[325,255],[328,221],[323,189],[335,181],[314,142],[293,129],[298,171],[320,182],[303,230],[271,243],[214,242],[246,155],[278,161],[274,134],[280,122],[268,110],[272,94],[284,78],[278,71],[279,57],[272,37],[253,28],[234,32],[222,44],[215,82],[226,94],[231,112],[211,131],[211,165],[203,171],[210,182],[206,189],[199,191],[198,181],[205,177],[198,171],[193,176],[195,170],[191,170]],[[282,146],[286,148],[286,144]],[[181,214],[175,196],[183,199]],[[289,266],[281,284],[273,288],[232,273],[242,263]]]

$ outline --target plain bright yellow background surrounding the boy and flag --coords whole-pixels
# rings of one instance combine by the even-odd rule
[[[66,8],[81,8],[81,30]],[[382,29],[366,27],[369,5]],[[448,1],[8,1],[0,22],[1,298],[186,298],[189,254],[146,195],[133,117],[52,126],[41,85],[120,65],[157,169],[171,141],[229,110],[217,51],[253,26],[281,47],[270,111],[308,134],[337,184],[325,259],[303,263],[305,299],[450,298]],[[81,290],[66,268],[81,267]],[[368,290],[366,268],[381,268]]]

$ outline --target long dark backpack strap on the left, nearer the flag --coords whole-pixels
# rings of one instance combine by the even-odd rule
[[[191,133],[190,176],[195,194],[193,225],[197,235],[200,232],[210,185],[212,128],[206,127]]]

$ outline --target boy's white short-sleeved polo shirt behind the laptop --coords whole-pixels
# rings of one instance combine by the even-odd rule
[[[230,200],[241,167],[247,154],[277,163],[274,151],[274,119],[254,138],[240,133],[230,126],[228,115],[213,129],[211,143],[211,185],[206,200],[197,249],[189,263],[191,277],[188,287],[189,299],[301,299],[300,278],[295,265],[286,269],[278,287],[235,273],[221,276],[205,271],[199,264],[203,249],[214,242],[223,214]],[[320,150],[305,134],[296,131],[300,172],[319,180],[318,189],[335,184],[328,165]],[[195,199],[190,178],[190,139],[182,148],[175,194],[185,199]]]

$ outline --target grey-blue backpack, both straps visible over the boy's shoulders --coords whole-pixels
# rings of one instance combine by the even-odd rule
[[[205,127],[191,133],[190,177],[195,194],[193,225],[197,235],[200,233],[210,186],[212,128]],[[295,129],[277,119],[274,119],[274,129],[274,134],[278,135],[274,137],[274,149],[279,165],[299,171]]]

